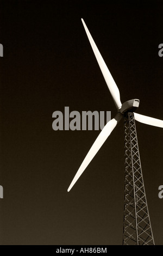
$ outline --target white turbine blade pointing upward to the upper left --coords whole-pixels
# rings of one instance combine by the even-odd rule
[[[82,22],[83,22],[83,26],[85,28],[87,37],[89,38],[90,44],[92,46],[92,50],[95,53],[99,68],[101,68],[102,74],[105,78],[106,84],[108,85],[108,88],[110,90],[112,98],[114,99],[115,105],[119,109],[122,106],[122,103],[120,100],[120,91],[119,91],[114,79],[112,78],[109,69],[107,68],[107,66],[105,64],[103,57],[101,56],[101,53],[98,51],[95,41],[93,41],[93,38],[92,38],[89,30],[87,29],[83,19],[82,19]]]

